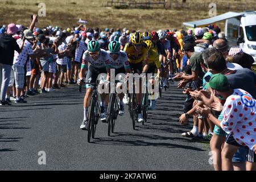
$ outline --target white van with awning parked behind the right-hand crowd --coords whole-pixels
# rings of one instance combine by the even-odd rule
[[[256,61],[256,11],[226,19],[225,36],[230,47],[240,47]]]

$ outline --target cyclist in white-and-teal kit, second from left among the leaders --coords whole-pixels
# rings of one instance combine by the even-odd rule
[[[121,44],[117,41],[113,41],[109,43],[109,51],[107,51],[110,55],[110,64],[111,68],[115,69],[115,76],[117,76],[116,80],[122,80],[119,79],[118,74],[119,73],[131,73],[131,68],[130,64],[128,61],[128,57],[126,53],[122,50],[120,50]],[[117,84],[117,88],[121,88],[122,84],[119,82]],[[119,115],[123,115],[125,113],[124,111],[124,106],[123,106],[123,97],[125,96],[125,93],[119,93],[119,105],[120,105],[120,110],[119,110]]]

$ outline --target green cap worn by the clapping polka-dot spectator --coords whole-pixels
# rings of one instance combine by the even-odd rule
[[[227,90],[230,88],[228,78],[221,73],[215,74],[210,78],[210,88],[215,90]]]

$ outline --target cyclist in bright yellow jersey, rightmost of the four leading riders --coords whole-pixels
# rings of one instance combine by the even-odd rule
[[[154,85],[155,79],[159,79],[160,73],[162,72],[161,63],[159,60],[159,54],[156,48],[154,48],[154,44],[151,40],[146,40],[145,43],[147,44],[148,48],[148,56],[147,56],[147,62],[148,62],[148,74],[152,74],[154,76],[155,73],[158,74],[157,78],[152,77],[150,80],[150,84]],[[151,98],[150,100],[150,109],[155,109],[155,99]]]

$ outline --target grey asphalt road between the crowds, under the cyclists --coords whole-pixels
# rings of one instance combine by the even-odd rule
[[[185,100],[171,86],[150,111],[148,123],[133,130],[126,113],[108,137],[106,123],[98,123],[96,138],[86,140],[80,130],[85,90],[72,85],[27,98],[27,104],[0,106],[0,170],[212,170],[209,144],[191,142],[181,133],[178,117]],[[46,165],[39,165],[39,152]],[[41,158],[40,158],[41,159]]]

